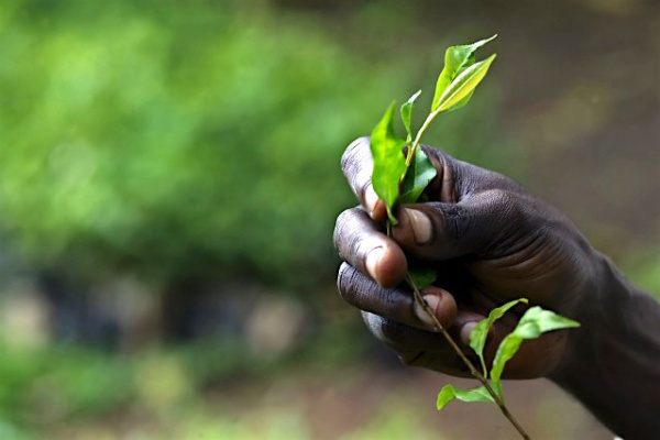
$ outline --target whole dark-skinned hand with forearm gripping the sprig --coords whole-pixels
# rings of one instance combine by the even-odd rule
[[[499,174],[421,146],[438,170],[427,202],[395,211],[371,186],[369,139],[353,142],[342,170],[360,206],[342,212],[334,243],[344,263],[338,287],[362,310],[371,332],[415,366],[468,376],[466,369],[403,283],[416,260],[438,272],[422,290],[436,317],[473,359],[469,334],[488,311],[526,297],[582,323],[522,343],[505,378],[548,377],[572,393],[626,439],[660,432],[660,305],[635,289],[570,220]],[[488,336],[490,364],[525,307],[497,321]]]

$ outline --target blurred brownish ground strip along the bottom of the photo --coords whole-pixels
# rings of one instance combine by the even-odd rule
[[[0,425],[0,436],[80,440],[449,440],[517,436],[491,405],[455,403],[442,414],[437,413],[435,400],[442,385],[471,383],[420,370],[384,367],[374,362],[352,362],[332,369],[298,365],[268,375],[234,376],[191,394],[186,364],[172,354],[152,352],[134,359],[132,366],[139,381],[136,394],[123,404],[110,405],[100,414],[90,414],[82,406],[64,416],[72,402],[44,394],[32,408],[31,421],[41,427],[34,437],[7,424]],[[105,377],[96,378],[100,381],[98,385],[113,386]],[[34,385],[33,399],[55,383],[51,377]],[[122,389],[125,385],[116,387]],[[505,393],[509,409],[532,438],[613,438],[549,382],[509,382]]]

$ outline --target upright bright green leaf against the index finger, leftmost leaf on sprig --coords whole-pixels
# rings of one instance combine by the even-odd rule
[[[381,122],[372,131],[370,142],[374,158],[372,184],[378,198],[387,207],[387,216],[392,224],[397,224],[392,209],[398,198],[399,180],[406,170],[403,153],[405,142],[394,133],[395,107],[396,102],[392,102]]]

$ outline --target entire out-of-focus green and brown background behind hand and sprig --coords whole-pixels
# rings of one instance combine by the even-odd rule
[[[1,2],[0,438],[514,438],[435,410],[450,380],[374,342],[331,242],[345,145],[419,88],[421,122],[444,48],[494,33],[427,142],[660,295],[656,1]],[[534,438],[612,438],[507,387]]]

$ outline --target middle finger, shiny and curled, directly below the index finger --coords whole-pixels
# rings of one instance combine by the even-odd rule
[[[408,271],[398,244],[377,230],[369,215],[358,208],[343,211],[337,219],[334,246],[343,261],[384,287],[399,284]]]

